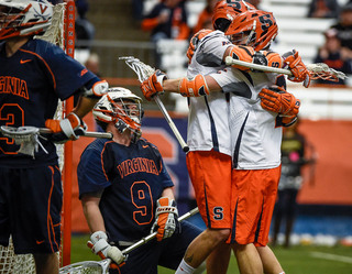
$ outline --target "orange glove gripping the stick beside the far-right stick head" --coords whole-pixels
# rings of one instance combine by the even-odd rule
[[[293,76],[289,76],[288,79],[292,81],[302,81],[306,88],[310,84],[310,74],[306,65],[301,61],[301,57],[298,55],[298,52],[295,50],[293,52],[286,53],[283,55],[285,63],[288,65],[289,70],[293,73]]]

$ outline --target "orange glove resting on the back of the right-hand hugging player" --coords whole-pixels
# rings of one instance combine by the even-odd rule
[[[284,88],[273,86],[263,88],[260,92],[261,106],[263,109],[280,113],[283,116],[297,116],[300,101]]]

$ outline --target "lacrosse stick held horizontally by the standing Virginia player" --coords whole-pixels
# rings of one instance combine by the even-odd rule
[[[18,153],[30,155],[34,158],[34,152],[37,152],[41,146],[41,149],[47,154],[47,151],[42,145],[40,138],[44,139],[41,136],[41,133],[52,133],[50,129],[40,129],[30,125],[19,128],[1,125],[0,132],[3,136],[13,139],[14,143],[20,145]],[[86,132],[84,136],[112,139],[112,134],[110,132]]]

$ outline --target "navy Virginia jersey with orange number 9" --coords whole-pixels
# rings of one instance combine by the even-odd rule
[[[151,232],[156,200],[173,186],[158,150],[145,139],[130,146],[96,140],[77,167],[79,196],[103,190],[99,207],[109,239],[135,241]]]

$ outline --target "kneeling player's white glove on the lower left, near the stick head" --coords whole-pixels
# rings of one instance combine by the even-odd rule
[[[92,253],[99,255],[102,260],[110,257],[117,264],[121,264],[125,260],[125,255],[123,255],[121,250],[108,243],[108,235],[103,231],[92,233],[87,244]]]

